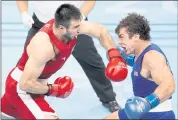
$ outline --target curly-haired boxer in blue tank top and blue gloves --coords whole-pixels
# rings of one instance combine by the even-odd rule
[[[175,80],[166,55],[150,41],[147,19],[131,13],[121,20],[115,32],[125,54],[135,55],[134,60],[129,60],[133,63],[126,61],[133,67],[134,96],[126,101],[125,108],[105,119],[175,119],[171,106]]]

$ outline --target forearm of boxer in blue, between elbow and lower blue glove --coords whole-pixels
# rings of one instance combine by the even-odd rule
[[[175,91],[175,84],[174,83],[161,83],[154,93],[158,96],[160,99],[160,102],[164,102],[165,100],[169,99],[169,97],[174,93]]]

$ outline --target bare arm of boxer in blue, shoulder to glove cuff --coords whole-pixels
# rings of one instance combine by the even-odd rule
[[[152,79],[158,87],[154,91],[160,102],[167,100],[175,91],[175,80],[166,63],[165,57],[157,52],[150,51],[145,55],[146,64]]]

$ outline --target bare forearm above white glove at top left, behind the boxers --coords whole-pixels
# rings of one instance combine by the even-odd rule
[[[26,1],[16,1],[17,7],[21,13],[28,12],[28,0]]]

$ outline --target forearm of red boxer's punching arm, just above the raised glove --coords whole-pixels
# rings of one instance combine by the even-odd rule
[[[106,50],[116,47],[111,35],[105,27],[101,28],[99,41]]]

